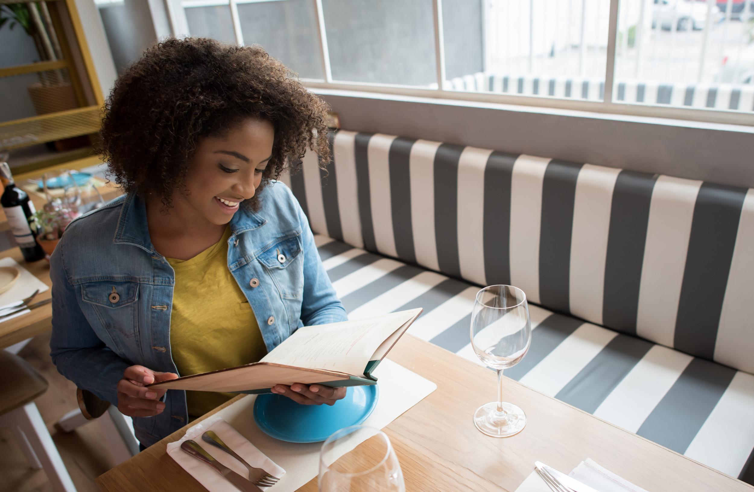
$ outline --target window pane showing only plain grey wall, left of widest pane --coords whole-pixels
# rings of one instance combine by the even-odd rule
[[[334,80],[437,83],[431,0],[323,0],[322,8]]]

